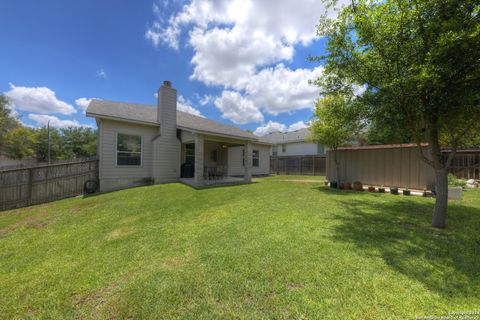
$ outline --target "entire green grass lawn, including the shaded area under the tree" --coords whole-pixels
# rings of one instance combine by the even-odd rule
[[[315,181],[316,180],[316,181]],[[478,310],[480,190],[433,199],[282,176],[0,213],[0,318],[414,319]]]

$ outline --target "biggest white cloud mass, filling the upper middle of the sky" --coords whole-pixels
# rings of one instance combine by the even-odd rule
[[[321,76],[322,67],[291,69],[284,63],[292,60],[296,46],[315,38],[315,26],[327,11],[322,1],[191,0],[168,16],[172,10],[161,8],[173,3],[154,5],[155,21],[145,37],[155,46],[178,50],[180,34],[187,33],[193,49],[190,78],[230,92],[216,100],[224,118],[245,123],[263,118],[261,111],[277,115],[313,108],[318,90],[308,80]],[[343,3],[346,0],[338,5]],[[334,10],[328,14],[335,16]],[[235,98],[232,92],[237,92]],[[249,112],[244,115],[243,109],[235,109],[246,106]]]

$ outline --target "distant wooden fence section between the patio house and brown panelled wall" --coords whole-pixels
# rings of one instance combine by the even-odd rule
[[[272,156],[270,173],[324,176],[325,156]]]

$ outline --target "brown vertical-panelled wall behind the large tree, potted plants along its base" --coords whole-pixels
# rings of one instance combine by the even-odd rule
[[[428,155],[428,146],[423,147]],[[340,148],[338,177],[333,151],[327,152],[327,179],[338,182],[360,181],[367,185],[429,189],[435,186],[435,172],[419,156],[414,144]],[[444,152],[448,157],[449,152]],[[459,178],[479,179],[480,150],[460,150],[450,172]]]

